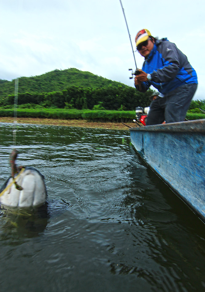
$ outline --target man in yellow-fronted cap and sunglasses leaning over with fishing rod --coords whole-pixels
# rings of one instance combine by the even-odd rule
[[[151,103],[146,125],[183,121],[198,84],[186,55],[167,38],[154,38],[147,29],[138,32],[135,42],[145,58],[142,70],[135,76],[135,87],[145,92],[152,85],[159,91]]]

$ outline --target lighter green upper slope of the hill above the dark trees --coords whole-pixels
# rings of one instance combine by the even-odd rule
[[[14,94],[15,80],[8,81],[0,79],[0,98]],[[108,85],[128,87],[123,83],[112,81],[87,71],[75,68],[66,70],[54,70],[39,76],[20,77],[18,92],[52,92],[62,91],[70,86],[78,87],[107,87]]]

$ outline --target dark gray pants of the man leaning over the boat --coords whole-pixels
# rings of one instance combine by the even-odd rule
[[[150,106],[146,125],[181,122],[185,119],[197,84],[184,84],[164,97],[157,97]]]

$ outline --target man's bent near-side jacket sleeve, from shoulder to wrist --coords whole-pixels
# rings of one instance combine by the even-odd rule
[[[163,41],[159,45],[159,53],[161,53],[162,58],[162,67],[154,70],[151,73],[152,81],[155,83],[163,83],[169,82],[175,78],[177,73],[180,70],[180,57],[179,57],[179,49],[176,47],[174,43],[170,43],[169,41]],[[181,55],[186,57],[181,51]]]

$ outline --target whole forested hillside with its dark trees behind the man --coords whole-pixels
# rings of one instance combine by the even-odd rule
[[[15,80],[8,81],[0,79],[0,116],[10,116],[13,114]],[[118,111],[117,116],[121,119],[122,113],[119,111],[133,111],[135,107],[147,107],[150,104],[149,97],[152,90],[145,93],[137,91],[134,87],[123,83],[112,81],[90,72],[80,71],[75,68],[66,70],[54,70],[40,76],[21,77],[18,84],[18,107],[21,115],[30,115],[23,109],[30,109],[32,115],[45,116],[44,109],[65,109],[65,112],[57,112],[57,116],[79,115],[79,110],[101,110],[100,119],[110,113],[105,114],[103,110]],[[8,110],[7,110],[8,109]],[[10,109],[10,110],[9,110]],[[68,110],[71,110],[70,113]],[[202,119],[205,112],[205,100],[192,101],[189,111],[189,119]],[[50,113],[49,113],[50,114]],[[56,113],[55,113],[56,114]],[[84,113],[83,115],[91,115]],[[94,113],[96,115],[96,113]],[[116,119],[116,113],[109,117]],[[130,113],[125,113],[130,115]],[[131,116],[133,113],[131,113]],[[51,113],[54,117],[54,112]],[[126,116],[126,119],[129,118]],[[82,113],[80,113],[82,118]],[[69,118],[71,118],[69,116]],[[84,117],[83,117],[84,118]],[[103,118],[103,119],[104,119]],[[90,116],[89,116],[89,119]],[[94,117],[92,116],[92,119]],[[107,119],[107,117],[106,117]]]

